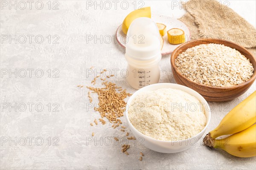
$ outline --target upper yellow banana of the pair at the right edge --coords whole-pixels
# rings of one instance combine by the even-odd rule
[[[256,122],[256,91],[239,103],[207,135],[212,139],[240,132]]]

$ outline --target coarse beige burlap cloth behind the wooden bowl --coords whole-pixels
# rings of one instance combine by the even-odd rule
[[[256,56],[256,29],[231,8],[215,0],[183,2],[187,13],[179,20],[191,38],[218,38],[238,43]]]

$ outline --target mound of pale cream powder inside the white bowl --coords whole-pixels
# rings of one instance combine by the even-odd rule
[[[204,129],[204,105],[185,91],[161,88],[138,94],[129,105],[128,117],[146,136],[162,141],[184,140]]]

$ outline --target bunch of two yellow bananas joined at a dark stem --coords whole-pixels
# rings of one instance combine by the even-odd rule
[[[233,156],[256,156],[256,91],[239,103],[204,137],[204,144],[221,148]],[[230,135],[232,134],[232,135]],[[222,135],[230,135],[216,139]]]

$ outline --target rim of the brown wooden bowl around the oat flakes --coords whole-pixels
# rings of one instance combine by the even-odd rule
[[[191,41],[185,42],[185,43],[181,44],[180,46],[178,46],[177,48],[175,48],[175,50],[172,52],[172,55],[171,55],[171,65],[172,65],[172,68],[175,69],[175,70],[177,70],[177,67],[175,66],[174,55],[175,55],[175,53],[176,53],[176,51],[177,51],[178,49],[180,49],[181,47],[183,47],[183,46],[185,46],[185,45],[187,45],[187,44],[190,44],[190,43],[192,43],[192,42],[197,42],[197,41],[215,43],[215,42],[212,42],[211,40],[212,40],[212,41],[213,41],[213,40],[218,40],[218,41],[220,41],[220,42],[231,43],[231,44],[237,45],[237,46],[241,47],[243,50],[245,50],[250,56],[252,56],[252,58],[253,58],[253,60],[254,60],[254,64],[253,64],[253,63],[251,62],[251,59],[250,59],[250,63],[252,63],[253,68],[254,68],[254,70],[253,70],[253,76],[252,76],[250,79],[248,79],[246,82],[242,82],[242,83],[239,84],[239,85],[233,85],[233,86],[230,86],[230,87],[215,87],[215,86],[202,85],[202,84],[199,84],[199,83],[197,83],[197,82],[194,82],[194,81],[190,80],[189,78],[183,76],[182,74],[180,74],[179,71],[175,71],[175,73],[177,74],[178,77],[182,77],[183,79],[186,79],[186,80],[189,81],[190,83],[195,84],[195,85],[198,85],[198,86],[202,86],[202,87],[205,87],[205,88],[222,89],[222,90],[223,90],[223,89],[240,88],[240,87],[245,86],[245,85],[247,85],[247,84],[249,84],[249,83],[251,83],[251,82],[253,82],[253,81],[255,80],[255,78],[256,78],[256,69],[255,69],[255,68],[256,68],[256,64],[255,64],[255,63],[256,63],[256,60],[255,60],[255,57],[253,56],[253,54],[252,54],[250,51],[248,51],[246,48],[242,47],[241,45],[239,45],[239,44],[237,44],[237,43],[234,43],[234,42],[231,42],[231,41],[226,41],[226,40],[220,40],[220,39],[216,39],[216,38],[211,38],[211,39],[204,38],[204,39],[199,39],[199,40],[191,40]],[[221,43],[215,43],[215,44],[221,44]],[[196,45],[195,45],[195,46],[196,46]],[[226,46],[226,45],[225,45],[225,46]],[[231,47],[230,47],[230,48],[231,48]],[[235,49],[236,49],[236,48],[235,48]],[[236,49],[236,50],[237,50],[237,49]],[[237,51],[239,51],[239,50],[237,50]],[[240,51],[239,51],[239,52],[240,52]],[[248,59],[247,56],[244,56],[244,57],[246,57],[246,58]],[[174,74],[174,73],[172,73],[172,74]]]

